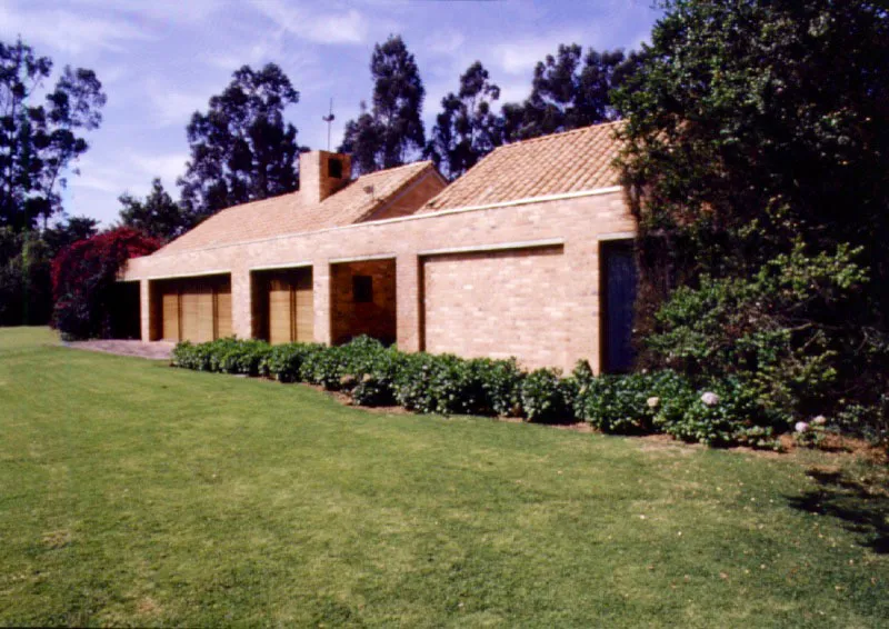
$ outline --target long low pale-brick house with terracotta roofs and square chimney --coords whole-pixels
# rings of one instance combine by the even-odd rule
[[[300,158],[298,192],[219,212],[130,260],[143,340],[236,335],[625,368],[635,222],[615,126],[500,147],[447,186],[430,162],[350,178]]]

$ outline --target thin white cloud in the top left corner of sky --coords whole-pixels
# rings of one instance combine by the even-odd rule
[[[149,33],[121,20],[73,13],[63,9],[16,11],[0,6],[0,33],[21,34],[40,43],[78,54],[90,49],[121,51],[128,41],[151,39]]]

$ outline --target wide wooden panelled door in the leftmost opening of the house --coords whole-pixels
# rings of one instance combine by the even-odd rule
[[[164,282],[160,288],[160,302],[163,340],[206,342],[232,333],[228,278]]]

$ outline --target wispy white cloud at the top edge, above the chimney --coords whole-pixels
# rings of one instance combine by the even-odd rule
[[[354,9],[318,13],[281,0],[254,0],[253,7],[280,29],[314,43],[362,43],[368,37],[368,21]]]

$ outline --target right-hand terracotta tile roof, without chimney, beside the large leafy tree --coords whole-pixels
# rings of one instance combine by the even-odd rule
[[[421,212],[618,186],[619,142],[609,122],[505,144],[431,199]]]

